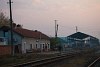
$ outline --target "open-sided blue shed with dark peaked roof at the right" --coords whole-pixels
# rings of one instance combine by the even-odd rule
[[[67,36],[68,44],[74,48],[95,47],[99,45],[99,39],[82,32],[76,32]]]

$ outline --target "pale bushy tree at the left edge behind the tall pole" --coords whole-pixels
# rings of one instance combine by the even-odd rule
[[[0,28],[2,26],[10,26],[10,23],[8,17],[6,17],[3,12],[0,12]]]

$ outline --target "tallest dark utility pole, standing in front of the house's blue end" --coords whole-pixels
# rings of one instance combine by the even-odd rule
[[[14,45],[13,45],[13,21],[12,21],[12,1],[9,0],[9,8],[10,8],[10,33],[11,33],[11,54],[14,56]]]

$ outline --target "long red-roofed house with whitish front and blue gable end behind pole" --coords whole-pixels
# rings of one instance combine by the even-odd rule
[[[0,37],[4,37],[6,45],[11,45],[10,30],[0,29]],[[40,31],[33,31],[24,28],[13,29],[13,45],[16,53],[27,53],[29,51],[48,51],[50,50],[49,37]]]

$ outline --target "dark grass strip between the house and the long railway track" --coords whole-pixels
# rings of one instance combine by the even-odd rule
[[[0,67],[10,67],[14,64],[21,64],[28,61],[35,61],[56,56],[55,54],[17,54],[15,56],[6,55],[0,57]]]

